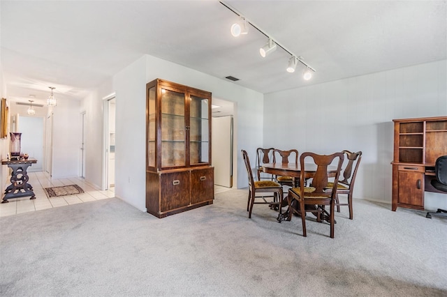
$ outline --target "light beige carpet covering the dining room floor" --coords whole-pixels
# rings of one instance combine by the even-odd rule
[[[159,219],[118,198],[0,218],[0,296],[447,296],[447,220],[354,199],[329,225],[248,190]],[[341,197],[342,198],[342,197]]]

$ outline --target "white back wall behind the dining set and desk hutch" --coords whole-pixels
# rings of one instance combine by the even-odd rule
[[[391,203],[392,120],[445,116],[446,69],[437,61],[265,95],[263,145],[362,151],[353,196]],[[425,208],[446,206],[445,195],[425,192]]]

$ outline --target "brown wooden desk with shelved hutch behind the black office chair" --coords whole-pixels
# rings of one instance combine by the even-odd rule
[[[447,155],[447,116],[395,119],[393,162],[393,204],[424,209],[424,192],[439,192],[430,181],[434,163]]]

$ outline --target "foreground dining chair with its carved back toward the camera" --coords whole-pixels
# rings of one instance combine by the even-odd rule
[[[328,166],[332,162],[337,162],[337,169],[335,171],[335,181],[332,185],[332,191],[326,191],[328,187]],[[342,169],[344,160],[344,153],[332,153],[332,155],[318,155],[316,153],[302,153],[300,155],[300,179],[305,180],[306,167],[309,165],[316,165],[316,171],[312,176],[312,186],[306,187],[305,183],[300,183],[300,187],[291,188],[288,190],[288,220],[291,220],[293,213],[301,215],[302,220],[302,236],[306,237],[306,218],[307,212],[312,212],[316,215],[317,222],[321,222],[321,218],[325,213],[328,214],[328,221],[330,224],[330,238],[334,238],[334,208],[335,208],[335,195],[337,195],[337,184],[339,175]],[[311,162],[309,162],[311,161]],[[333,170],[331,170],[333,172]],[[298,208],[293,207],[293,199],[298,201]],[[312,207],[307,207],[310,206]],[[325,206],[329,206],[329,211],[325,209]]]

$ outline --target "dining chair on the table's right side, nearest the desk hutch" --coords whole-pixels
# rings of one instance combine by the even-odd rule
[[[338,181],[337,194],[335,195],[335,206],[337,206],[337,212],[340,212],[340,206],[349,206],[349,219],[353,219],[353,208],[352,208],[352,193],[354,190],[354,183],[356,182],[358,165],[360,165],[360,160],[362,160],[362,151],[357,153],[351,153],[350,151],[342,151],[345,158],[348,160],[346,162],[346,167],[342,169],[343,180]],[[354,169],[354,170],[353,170]],[[333,182],[328,182],[327,190],[331,190]],[[348,203],[340,203],[339,194],[348,195]]]

